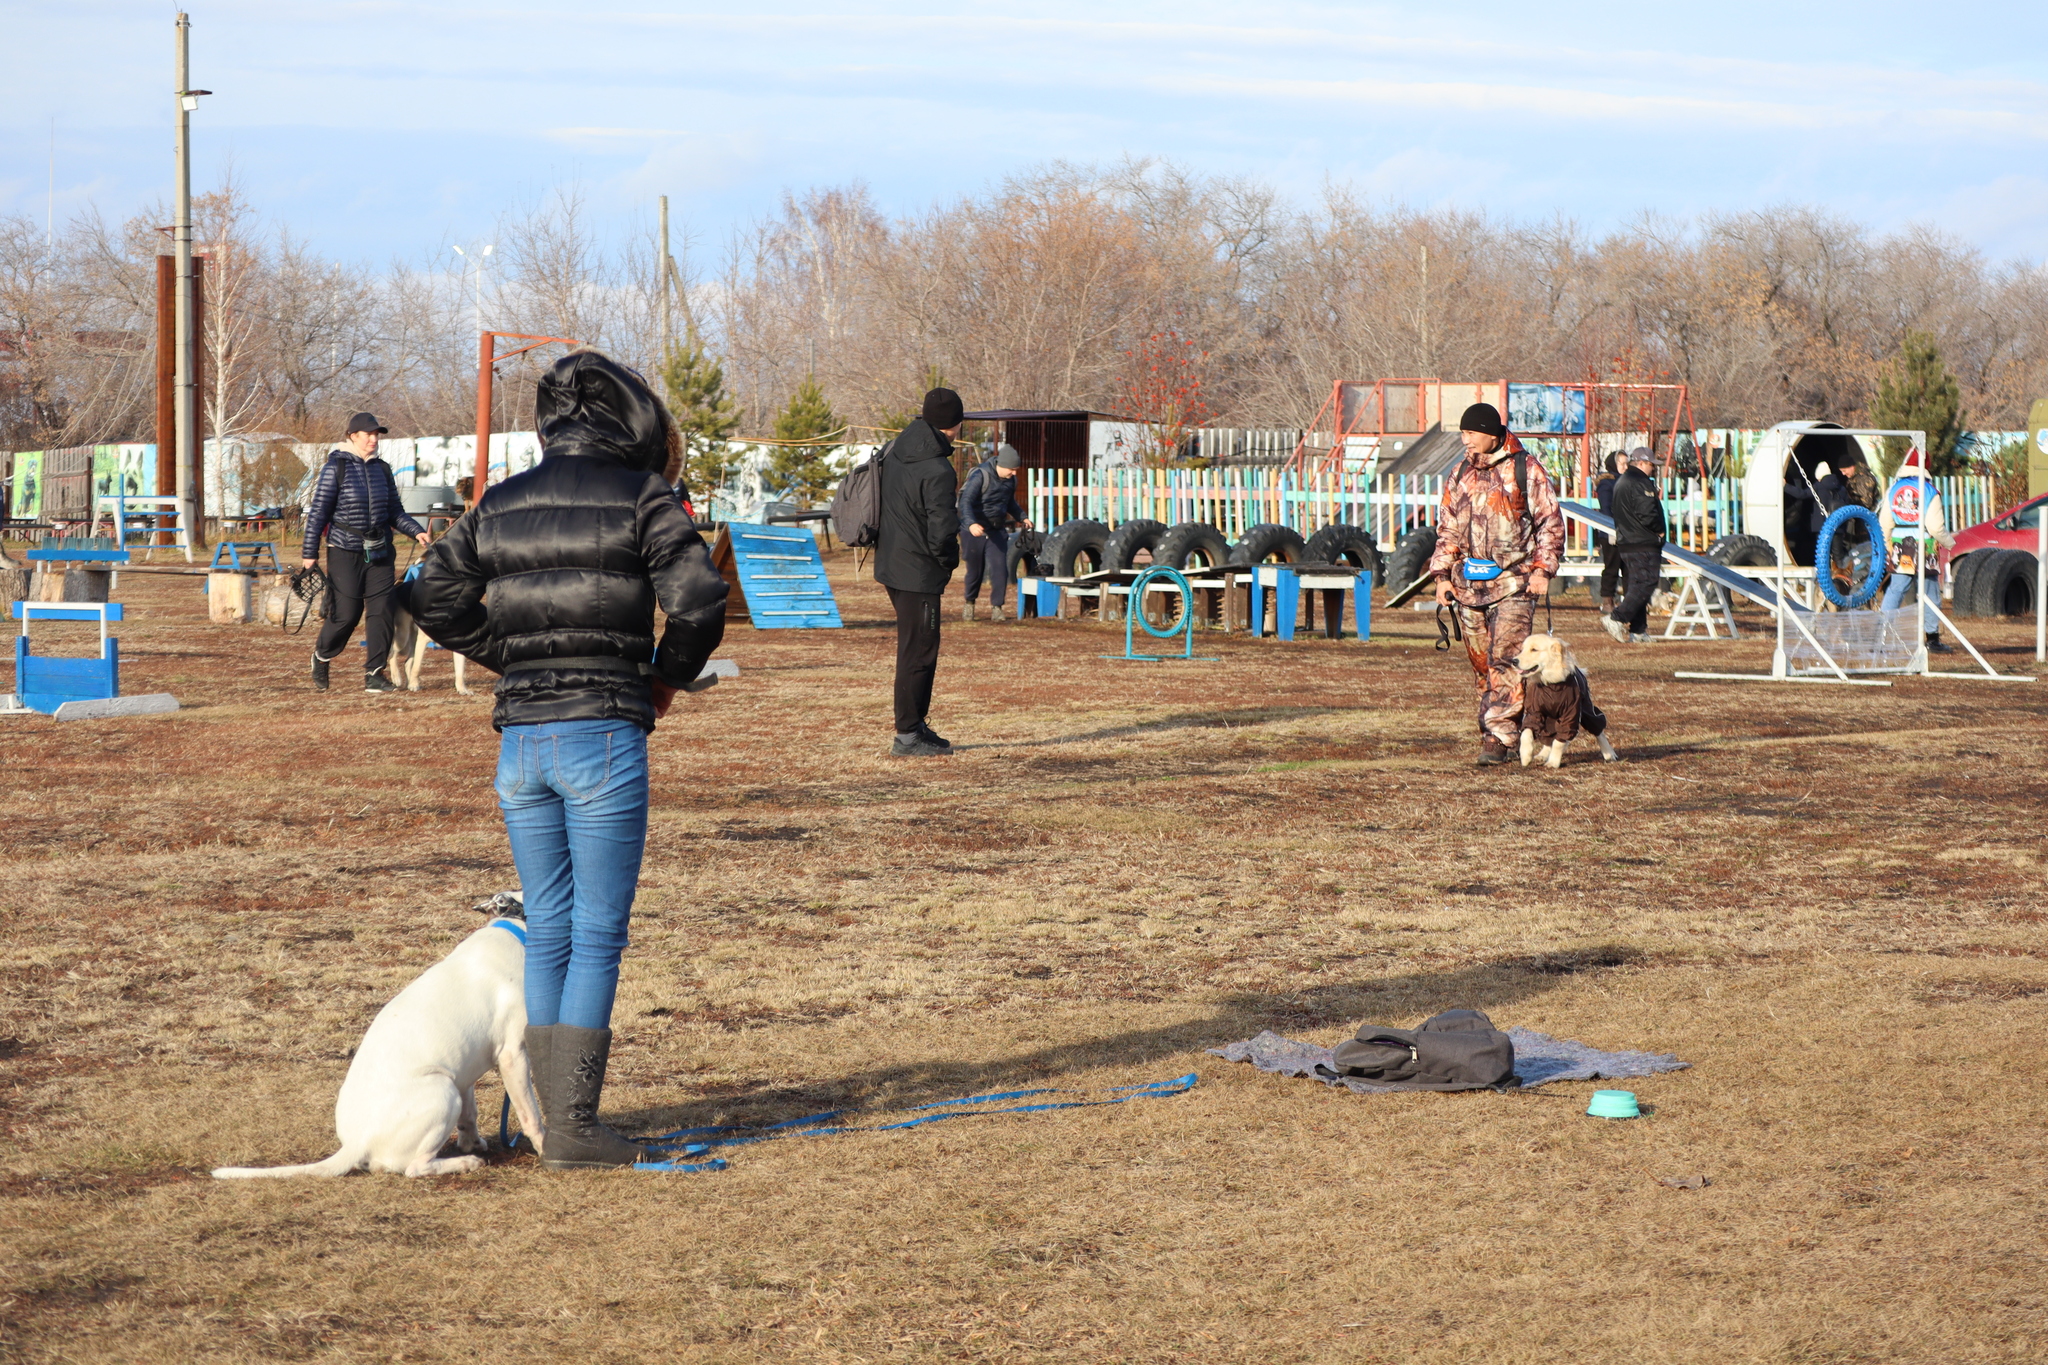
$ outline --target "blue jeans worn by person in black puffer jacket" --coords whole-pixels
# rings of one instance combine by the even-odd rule
[[[647,849],[647,735],[631,720],[508,724],[496,786],[526,894],[526,1023],[610,1027]]]

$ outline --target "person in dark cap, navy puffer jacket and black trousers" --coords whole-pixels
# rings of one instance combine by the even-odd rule
[[[377,438],[385,426],[375,413],[358,411],[348,420],[340,448],[328,452],[313,481],[313,497],[305,505],[305,546],[299,567],[319,563],[319,538],[328,538],[328,622],[313,643],[313,688],[328,690],[328,665],[348,649],[356,622],[369,616],[362,643],[365,692],[397,692],[385,677],[391,659],[391,573],[397,555],[391,532],[399,530],[420,544],[426,528],[406,514],[397,497],[391,467],[377,458]]]

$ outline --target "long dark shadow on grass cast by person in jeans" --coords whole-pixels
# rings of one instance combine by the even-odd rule
[[[1012,1056],[926,1060],[856,1070],[807,1085],[737,1087],[684,1105],[610,1113],[623,1132],[670,1132],[709,1124],[774,1124],[821,1109],[893,1111],[987,1091],[1071,1085],[1073,1072],[1118,1068],[1114,1085],[1165,1081],[1204,1060],[1204,1048],[1251,1038],[1260,1029],[1288,1036],[1350,1033],[1360,1023],[1413,1027],[1444,1009],[1499,1011],[1552,990],[1567,976],[1645,962],[1647,954],[1618,943],[1561,954],[1518,954],[1460,964],[1442,972],[1405,972],[1296,993],[1237,993],[1217,1001],[1204,1019],[1108,1038],[1055,1044]],[[1509,1027],[1511,1017],[1495,1017]]]

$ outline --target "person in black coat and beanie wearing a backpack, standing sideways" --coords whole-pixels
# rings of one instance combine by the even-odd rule
[[[961,563],[952,438],[967,407],[952,389],[924,395],[922,415],[891,442],[881,477],[874,581],[897,614],[895,743],[899,759],[952,753],[926,716],[938,675],[938,606]]]

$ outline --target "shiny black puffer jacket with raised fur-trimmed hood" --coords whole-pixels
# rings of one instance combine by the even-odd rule
[[[535,422],[541,465],[434,542],[412,614],[432,641],[504,673],[498,729],[616,718],[651,731],[637,665],[651,659],[680,688],[725,636],[725,579],[659,475],[668,413],[637,375],[584,350],[541,379]]]

